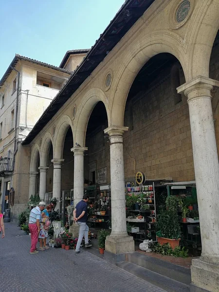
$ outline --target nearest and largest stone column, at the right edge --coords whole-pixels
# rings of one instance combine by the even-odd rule
[[[191,291],[199,292],[219,291],[219,159],[211,105],[214,85],[219,86],[219,81],[198,76],[178,88],[178,93],[188,97],[190,115],[202,243],[200,259],[192,260]]]

